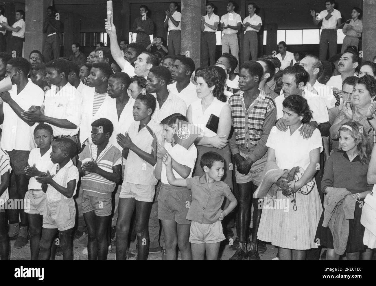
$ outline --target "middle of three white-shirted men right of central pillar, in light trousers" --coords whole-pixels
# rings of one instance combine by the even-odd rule
[[[235,2],[229,1],[227,3],[227,14],[221,17],[221,30],[223,30],[222,36],[222,54],[229,53],[236,57],[239,62],[239,43],[237,32],[241,29],[241,17],[239,14],[235,13]],[[239,71],[238,66],[235,68],[234,72]]]

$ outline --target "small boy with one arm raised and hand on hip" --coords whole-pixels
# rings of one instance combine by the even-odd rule
[[[188,187],[192,191],[192,203],[186,216],[191,220],[192,259],[217,260],[221,241],[226,239],[223,235],[221,221],[237,205],[235,196],[230,187],[221,181],[224,175],[224,159],[216,152],[206,152],[200,158],[200,166],[205,175],[201,178],[176,179],[172,172],[172,159],[168,153],[163,158],[166,165],[167,180],[170,185]],[[229,205],[223,211],[221,205],[224,196],[229,200]]]

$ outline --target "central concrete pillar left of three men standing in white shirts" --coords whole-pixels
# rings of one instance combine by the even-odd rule
[[[193,59],[196,68],[201,62],[201,17],[205,15],[205,0],[182,0],[181,50]]]

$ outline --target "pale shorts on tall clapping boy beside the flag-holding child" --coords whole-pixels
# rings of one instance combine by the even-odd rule
[[[139,202],[153,202],[155,185],[139,185],[123,182],[121,185],[120,198],[135,198]]]

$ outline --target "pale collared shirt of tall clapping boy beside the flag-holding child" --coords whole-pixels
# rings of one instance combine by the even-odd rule
[[[152,154],[153,137],[145,126],[138,131],[139,125],[139,121],[133,122],[129,127],[128,135],[133,144],[135,144],[139,149],[146,153]],[[164,141],[164,137],[161,125],[155,122],[154,119],[150,119],[147,126],[152,129],[158,142],[162,143]],[[139,157],[132,150],[129,150],[128,157],[125,162],[123,185],[125,182],[138,185],[156,185],[158,180],[154,176],[154,166],[141,159],[141,157]]]

